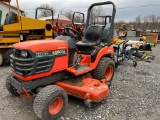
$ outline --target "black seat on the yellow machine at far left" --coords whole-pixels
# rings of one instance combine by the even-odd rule
[[[4,20],[4,25],[13,24],[16,21],[17,14],[14,12],[9,12]],[[3,31],[3,25],[0,26],[0,31]]]

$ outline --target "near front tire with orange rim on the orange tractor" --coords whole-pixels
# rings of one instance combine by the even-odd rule
[[[65,110],[68,95],[64,89],[56,85],[44,87],[36,96],[33,109],[38,118],[54,120]]]

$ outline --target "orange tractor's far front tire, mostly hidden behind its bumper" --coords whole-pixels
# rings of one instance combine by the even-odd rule
[[[10,78],[13,76],[11,73],[7,79],[6,79],[6,89],[8,90],[9,93],[11,93],[13,96],[19,96],[19,94],[15,91],[13,86],[11,85]]]

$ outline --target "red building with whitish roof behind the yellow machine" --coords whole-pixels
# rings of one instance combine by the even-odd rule
[[[54,16],[53,17],[54,21],[53,21],[52,25],[56,25],[57,22],[58,22],[58,25],[61,24],[62,26],[72,23],[72,21],[69,18],[67,18],[66,16],[64,16],[64,15],[59,15],[58,21],[57,21],[57,17],[58,16]],[[40,18],[40,19],[41,20],[48,20],[48,21],[52,22],[52,16],[43,17],[43,18]]]

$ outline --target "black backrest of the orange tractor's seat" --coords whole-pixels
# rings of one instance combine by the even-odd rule
[[[102,27],[99,25],[91,25],[85,32],[85,41],[100,43],[102,38]]]

